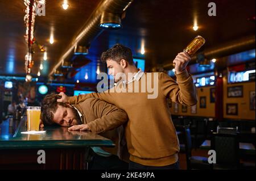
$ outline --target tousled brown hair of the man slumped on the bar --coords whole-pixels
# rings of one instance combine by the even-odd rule
[[[65,103],[59,103],[57,102],[57,99],[60,99],[61,96],[51,93],[48,94],[42,102],[42,108],[41,108],[41,119],[44,124],[46,125],[52,125],[53,122],[53,113],[56,112],[58,106],[67,107],[67,104]]]

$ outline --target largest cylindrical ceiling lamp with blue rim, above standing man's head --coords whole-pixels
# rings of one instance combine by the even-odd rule
[[[121,17],[118,14],[104,11],[98,26],[107,30],[119,30],[122,28]]]

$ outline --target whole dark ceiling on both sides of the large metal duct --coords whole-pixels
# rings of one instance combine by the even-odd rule
[[[100,0],[69,0],[68,10],[61,8],[63,1],[46,1],[46,16],[36,16],[35,39],[46,46],[49,72],[69,48],[82,25],[96,9]],[[196,35],[205,37],[203,49],[216,47],[228,41],[255,35],[255,0],[216,0],[216,16],[208,15],[209,1],[134,0],[122,20],[123,28],[104,31],[90,46],[88,57],[97,61],[102,51],[115,43],[122,43],[140,53],[144,39],[146,68],[172,61]],[[0,1],[0,74],[24,74],[24,56],[27,44],[24,40],[24,4],[17,0]],[[193,31],[194,20],[199,30]],[[53,28],[53,29],[51,29]],[[49,44],[53,30],[55,43]],[[39,70],[43,53],[35,49],[32,73]]]

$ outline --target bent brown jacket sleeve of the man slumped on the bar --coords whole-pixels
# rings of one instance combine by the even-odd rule
[[[88,126],[92,132],[102,133],[117,128],[126,123],[128,116],[125,111],[99,99],[94,99],[90,104],[90,110],[98,117],[90,121]]]

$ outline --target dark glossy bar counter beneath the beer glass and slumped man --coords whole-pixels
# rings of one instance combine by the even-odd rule
[[[114,146],[98,134],[60,126],[41,128],[44,134],[22,134],[27,131],[26,120],[11,123],[9,118],[0,124],[0,169],[86,169],[90,146]],[[46,163],[38,163],[39,150],[45,151]]]

